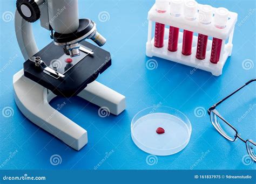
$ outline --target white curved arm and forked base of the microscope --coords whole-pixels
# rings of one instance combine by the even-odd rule
[[[19,47],[27,60],[38,52],[38,48],[31,23],[26,22],[17,11],[15,31]],[[87,131],[49,105],[55,94],[25,77],[23,69],[14,75],[13,83],[15,102],[26,118],[75,150],[87,144]],[[97,81],[88,84],[78,96],[99,107],[109,108],[114,115],[119,115],[125,109],[125,96]]]

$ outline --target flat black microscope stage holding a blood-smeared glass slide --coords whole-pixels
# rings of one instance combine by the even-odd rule
[[[64,54],[62,46],[56,46],[52,42],[33,55],[40,56],[48,67],[65,75],[64,77],[57,79],[45,73],[41,67],[35,66],[35,62],[30,60],[24,62],[24,75],[56,95],[65,97],[77,95],[111,65],[109,52],[87,41],[82,41],[80,44],[90,48],[93,54],[80,51],[79,56],[70,58]]]

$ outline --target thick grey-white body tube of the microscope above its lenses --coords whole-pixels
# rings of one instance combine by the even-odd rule
[[[78,0],[48,0],[49,23],[54,31],[68,34],[79,27]]]

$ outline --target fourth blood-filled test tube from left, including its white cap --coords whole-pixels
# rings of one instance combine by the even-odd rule
[[[201,24],[211,24],[212,22],[212,6],[210,5],[203,5],[201,6],[199,13],[198,13],[198,19]],[[208,36],[204,34],[198,34],[198,40],[197,40],[197,53],[196,58],[200,60],[205,59],[206,55],[206,49],[207,49],[207,41]]]

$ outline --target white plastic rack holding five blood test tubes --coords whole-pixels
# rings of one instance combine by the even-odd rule
[[[198,10],[202,4],[198,4]],[[213,8],[213,16],[216,8]],[[180,16],[171,16],[170,8],[166,9],[164,13],[158,13],[156,11],[156,4],[150,9],[147,19],[149,20],[148,36],[146,43],[146,55],[149,57],[156,56],[158,58],[163,58],[173,62],[181,63],[183,65],[191,66],[195,69],[206,70],[211,72],[214,76],[219,76],[222,74],[223,67],[225,65],[228,56],[231,56],[232,53],[232,40],[234,34],[235,23],[237,22],[238,14],[235,12],[229,12],[228,21],[224,29],[218,29],[211,24],[201,24],[198,21],[198,18],[195,20],[187,20],[181,13]],[[205,34],[208,37],[219,38],[223,40],[220,52],[220,60],[218,63],[214,64],[210,62],[211,49],[212,49],[212,40],[208,40],[207,43],[207,52],[206,58],[204,60],[199,60],[196,58],[196,49],[197,49],[197,36],[193,36],[193,47],[191,55],[183,55],[182,50],[182,40],[183,32],[179,32],[179,43],[178,50],[176,52],[171,52],[167,49],[168,47],[168,36],[169,29],[165,28],[164,36],[164,47],[157,48],[154,46],[154,37],[152,38],[152,23],[161,23],[173,27],[178,27],[179,30],[188,30],[194,33]],[[228,40],[227,40],[228,39]]]

